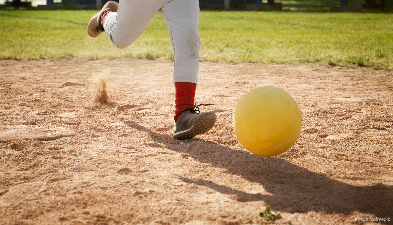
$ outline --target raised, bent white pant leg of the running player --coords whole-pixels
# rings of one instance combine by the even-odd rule
[[[118,48],[131,45],[160,9],[159,0],[119,0],[118,12],[105,17],[103,27]]]

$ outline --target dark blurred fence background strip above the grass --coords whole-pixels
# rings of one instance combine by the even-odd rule
[[[108,0],[0,0],[0,9],[101,9]],[[116,0],[118,1],[118,0]],[[392,11],[393,0],[199,0],[207,10]]]

